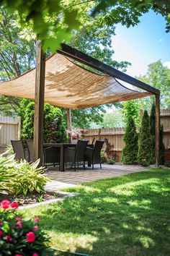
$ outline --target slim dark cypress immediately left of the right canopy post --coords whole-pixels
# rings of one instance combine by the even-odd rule
[[[151,115],[150,115],[150,131],[151,131],[151,148],[152,148],[152,163],[155,163],[155,140],[156,140],[156,106],[152,104]]]

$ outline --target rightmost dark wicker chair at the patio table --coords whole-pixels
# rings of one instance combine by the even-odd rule
[[[88,166],[91,166],[92,164],[93,169],[94,169],[95,163],[99,163],[100,168],[102,168],[100,153],[101,153],[103,144],[104,144],[104,140],[97,140],[94,145],[94,148],[86,148],[85,161],[88,162]]]

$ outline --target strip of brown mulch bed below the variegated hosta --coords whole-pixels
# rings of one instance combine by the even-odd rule
[[[36,202],[45,202],[48,200],[56,199],[58,197],[63,197],[64,195],[58,194],[56,192],[46,192],[44,194],[28,194],[28,195],[9,195],[0,194],[0,202],[2,200],[9,200],[10,202],[17,202],[20,206],[32,205]]]

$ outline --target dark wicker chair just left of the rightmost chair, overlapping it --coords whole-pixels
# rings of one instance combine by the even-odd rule
[[[76,171],[76,163],[79,168],[79,163],[83,162],[85,168],[84,153],[88,142],[89,140],[78,140],[76,148],[65,148],[64,150],[64,161],[65,163],[70,162],[71,167],[74,166],[74,171]]]

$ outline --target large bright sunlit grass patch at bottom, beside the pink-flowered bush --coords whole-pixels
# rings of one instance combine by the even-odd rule
[[[54,249],[61,249],[70,252],[79,252],[79,247],[92,250],[93,243],[97,242],[97,237],[91,234],[73,234],[69,233],[48,233],[51,237],[50,246]]]

